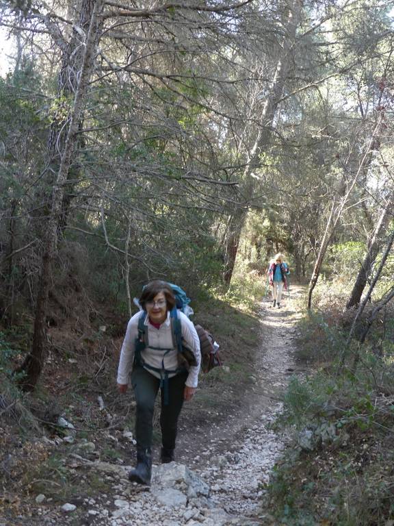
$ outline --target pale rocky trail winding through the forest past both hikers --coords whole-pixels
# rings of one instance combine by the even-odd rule
[[[292,288],[292,299],[301,289]],[[69,469],[83,477],[94,470],[111,490],[88,499],[49,507],[36,499],[31,523],[21,525],[80,526],[254,526],[271,524],[261,508],[264,485],[286,437],[272,430],[289,376],[298,373],[293,339],[300,314],[293,301],[283,308],[261,303],[261,343],[248,403],[232,408],[209,428],[181,426],[177,462],[153,468],[150,488],[130,484],[131,466],[88,460],[74,453]],[[205,436],[202,436],[205,434]],[[155,461],[154,461],[155,463]],[[11,526],[3,523],[0,526]],[[12,525],[16,526],[16,525]]]

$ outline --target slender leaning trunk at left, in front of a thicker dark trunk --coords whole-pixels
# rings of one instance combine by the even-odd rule
[[[70,116],[68,134],[64,145],[64,151],[62,152],[62,159],[60,162],[59,172],[57,173],[57,179],[55,181],[55,185],[53,186],[51,212],[49,214],[49,221],[47,224],[47,236],[44,244],[40,281],[38,284],[33,345],[31,348],[31,353],[27,355],[25,362],[23,362],[21,367],[18,369],[18,372],[24,373],[23,378],[21,379],[21,387],[23,390],[34,389],[45,362],[45,340],[47,336],[45,318],[47,314],[47,299],[51,287],[52,262],[57,249],[57,227],[59,225],[60,214],[62,211],[64,184],[66,183],[68,170],[70,168],[75,140],[77,137],[78,125],[83,111],[83,99],[86,95],[88,82],[94,66],[96,44],[99,39],[99,17],[97,15],[101,10],[101,5],[102,0],[96,0],[94,3],[94,9],[90,19],[89,32],[86,38],[81,75],[79,77],[77,92],[75,93],[73,111],[71,112]]]

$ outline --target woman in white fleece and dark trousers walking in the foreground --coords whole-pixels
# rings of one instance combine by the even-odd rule
[[[174,292],[166,281],[155,280],[145,286],[140,305],[142,311],[130,319],[120,351],[118,390],[127,391],[131,373],[137,403],[137,466],[129,472],[129,479],[150,484],[157,392],[160,388],[161,462],[172,462],[179,414],[183,401],[191,400],[196,391],[201,354],[196,329],[183,312],[176,310]],[[174,327],[179,327],[179,338],[174,337]],[[192,365],[179,352],[180,341]]]

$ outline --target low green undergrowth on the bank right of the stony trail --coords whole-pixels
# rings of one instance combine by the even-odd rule
[[[367,308],[347,346],[355,311],[345,311],[344,299],[342,283],[322,282],[300,327],[297,358],[310,373],[289,384],[280,425],[291,447],[266,503],[283,525],[394,524],[393,306],[360,346]]]

